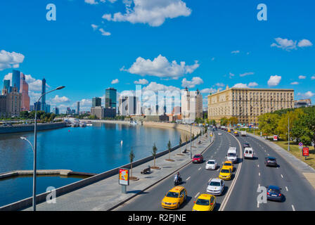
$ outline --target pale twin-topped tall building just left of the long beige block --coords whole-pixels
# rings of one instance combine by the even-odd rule
[[[181,117],[185,122],[203,118],[203,96],[200,91],[188,91],[187,87],[181,93]]]

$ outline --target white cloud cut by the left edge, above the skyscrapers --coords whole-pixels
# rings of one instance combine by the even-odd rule
[[[24,56],[21,53],[0,51],[0,71],[8,68],[18,68],[23,63]]]

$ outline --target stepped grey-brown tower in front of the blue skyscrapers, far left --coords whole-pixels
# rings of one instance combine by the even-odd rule
[[[13,86],[12,91],[7,96],[6,112],[10,117],[19,117],[21,110],[22,94],[18,92],[18,87]]]

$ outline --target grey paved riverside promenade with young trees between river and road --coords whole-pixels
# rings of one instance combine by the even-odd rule
[[[192,155],[203,153],[213,143],[214,137],[203,136],[195,139],[192,143]],[[170,153],[170,158],[174,162],[169,162],[169,155],[163,155],[156,158],[155,165],[160,169],[151,169],[150,174],[141,174],[141,170],[150,165],[153,167],[153,160],[139,165],[132,169],[132,176],[139,178],[137,181],[130,181],[127,186],[127,193],[122,193],[122,187],[118,184],[118,174],[110,176],[89,186],[79,188],[70,193],[60,195],[56,198],[56,203],[40,203],[37,205],[38,211],[105,211],[113,210],[115,207],[122,205],[127,200],[141,194],[146,189],[163,179],[173,176],[179,169],[191,163],[190,152],[182,153],[187,148],[190,150],[190,143],[182,146]],[[180,155],[178,155],[180,154]],[[162,199],[162,196],[161,196]],[[32,207],[25,209],[32,210]]]

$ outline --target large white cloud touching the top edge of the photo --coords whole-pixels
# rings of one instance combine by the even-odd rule
[[[124,0],[126,12],[118,12],[103,15],[105,20],[114,22],[148,23],[152,27],[162,25],[167,18],[191,15],[191,8],[181,0],[134,0],[134,8],[131,8],[132,1]]]

